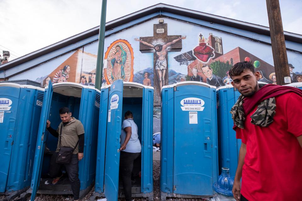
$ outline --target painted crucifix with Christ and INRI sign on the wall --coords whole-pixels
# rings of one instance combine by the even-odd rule
[[[160,106],[160,90],[169,84],[168,52],[180,52],[186,36],[168,35],[167,24],[153,24],[153,36],[135,38],[142,53],[153,52],[154,106]],[[155,53],[155,54],[154,54]]]

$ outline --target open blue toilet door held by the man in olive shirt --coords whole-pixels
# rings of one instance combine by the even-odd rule
[[[42,161],[43,161],[44,146],[45,146],[45,139],[46,139],[46,120],[49,117],[52,95],[53,95],[53,85],[51,82],[49,82],[48,89],[45,90],[45,94],[43,98],[43,106],[42,106],[40,125],[38,130],[35,161],[34,161],[32,179],[31,179],[31,189],[32,189],[31,201],[35,200],[38,187],[40,186]]]

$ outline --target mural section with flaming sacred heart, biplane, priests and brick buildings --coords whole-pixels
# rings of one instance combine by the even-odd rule
[[[193,60],[192,53],[195,60]],[[231,84],[232,79],[228,74],[229,69],[235,63],[242,61],[253,63],[256,71],[260,72],[261,78],[259,81],[275,83],[273,79],[276,79],[276,75],[272,76],[272,73],[274,73],[273,66],[240,47],[224,54],[222,38],[214,36],[212,33],[209,33],[208,39],[199,34],[199,46],[196,46],[191,52],[184,52],[174,57],[174,59],[180,62],[180,65],[187,65],[186,80],[200,81],[216,87]]]

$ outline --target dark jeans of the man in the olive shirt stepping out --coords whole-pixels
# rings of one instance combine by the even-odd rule
[[[62,163],[56,163],[56,158],[57,158],[58,152],[55,152],[50,160],[50,177],[59,177],[61,176],[61,167],[62,165],[65,166],[69,181],[71,183],[71,190],[74,196],[75,200],[79,199],[80,195],[80,179],[79,179],[79,160],[78,160],[78,155],[73,154],[71,156],[70,163],[62,164]]]

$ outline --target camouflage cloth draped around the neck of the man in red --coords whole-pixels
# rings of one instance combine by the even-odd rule
[[[244,128],[245,114],[243,110],[244,96],[240,95],[230,113],[234,124],[239,128]],[[267,127],[273,122],[273,117],[276,114],[275,97],[268,98],[260,102],[256,111],[251,116],[251,123],[261,127]]]

